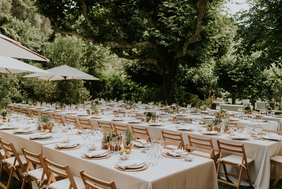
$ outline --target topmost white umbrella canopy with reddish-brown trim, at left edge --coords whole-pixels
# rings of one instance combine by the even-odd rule
[[[2,34],[0,34],[0,55],[19,59],[50,61]]]

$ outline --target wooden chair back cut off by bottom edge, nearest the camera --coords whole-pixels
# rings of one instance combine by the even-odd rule
[[[96,186],[96,184],[109,187],[111,189],[117,189],[116,184],[114,181],[103,181],[97,178],[94,178],[88,174],[86,174],[83,170],[80,171],[81,178],[83,180],[83,183],[85,185],[86,189],[101,189],[101,187]]]

